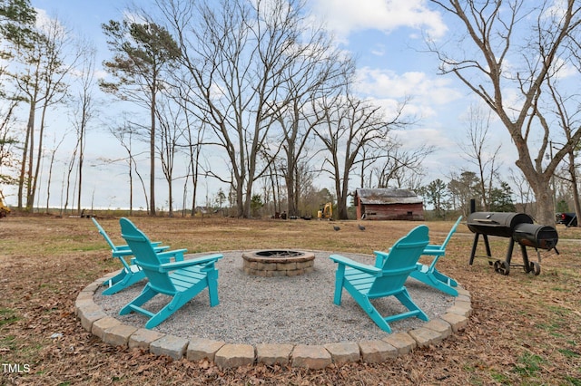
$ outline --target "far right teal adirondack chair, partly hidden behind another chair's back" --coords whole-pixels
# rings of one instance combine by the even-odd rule
[[[416,270],[409,274],[411,277],[419,280],[420,282],[430,285],[445,294],[451,294],[452,296],[458,296],[458,290],[455,288],[458,286],[458,283],[451,277],[440,273],[438,269],[436,269],[436,263],[438,263],[438,259],[441,256],[446,254],[446,246],[448,246],[450,238],[456,232],[456,228],[458,228],[458,224],[460,224],[461,219],[461,216],[458,217],[456,224],[454,224],[454,226],[450,229],[448,236],[444,240],[444,243],[441,245],[428,244],[428,246],[424,248],[422,255],[435,256],[432,260],[432,263],[430,265],[418,263],[416,265]]]

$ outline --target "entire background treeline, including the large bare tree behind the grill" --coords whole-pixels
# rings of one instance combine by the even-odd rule
[[[556,206],[568,203],[581,215],[581,97],[572,86],[581,74],[579,1],[428,4],[454,28],[445,39],[428,31],[427,51],[442,75],[458,77],[488,111],[468,120],[462,152],[470,162],[458,171],[476,170],[482,207],[499,205],[510,187],[513,200],[536,203],[539,222],[550,224]],[[41,188],[48,207],[59,147],[74,137],[60,188],[64,207],[76,201],[80,211],[85,154],[93,145],[87,132],[106,115],[95,101],[98,88],[107,108],[131,110],[108,129],[125,152],[114,160],[126,164],[129,207],[139,192],[151,215],[161,189],[170,215],[179,200],[182,207],[190,200],[193,212],[203,179],[228,187],[222,194],[238,217],[251,217],[257,195],[300,215],[306,187],[320,178],[332,181],[339,218],[348,216],[353,188],[418,190],[425,185],[422,161],[433,149],[404,150],[396,140],[396,130],[417,121],[409,101],[386,109],[361,98],[354,59],[307,5],[151,0],[125,9],[102,25],[109,51],[107,75],[99,79],[94,43],[56,19],[40,20],[29,0],[0,0],[0,182],[17,187],[18,208],[38,207]],[[66,127],[50,127],[53,114],[69,114]],[[499,175],[497,150],[484,151],[492,117],[514,147],[512,180]],[[453,180],[445,183],[450,205],[461,205]],[[421,191],[433,201],[438,185]]]

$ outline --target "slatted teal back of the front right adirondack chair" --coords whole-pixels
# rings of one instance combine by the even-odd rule
[[[385,294],[391,289],[400,288],[406,283],[409,273],[416,270],[419,256],[428,245],[428,227],[419,226],[412,229],[407,236],[401,237],[383,258],[383,265],[378,266],[382,273],[369,288],[369,296]],[[376,265],[379,263],[379,259]]]

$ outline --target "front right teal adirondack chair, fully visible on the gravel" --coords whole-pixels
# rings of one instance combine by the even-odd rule
[[[413,302],[405,287],[409,274],[416,270],[416,263],[428,242],[428,227],[419,226],[400,238],[389,253],[374,252],[375,266],[331,255],[330,259],[339,264],[335,274],[334,303],[340,305],[342,289],[345,288],[373,322],[387,333],[391,333],[389,323],[400,319],[415,316],[428,321],[428,315]],[[395,296],[409,311],[387,317],[379,314],[370,300],[387,296]]]

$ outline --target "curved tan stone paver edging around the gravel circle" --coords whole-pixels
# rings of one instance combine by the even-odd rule
[[[167,355],[175,360],[208,360],[220,368],[234,368],[255,363],[291,365],[309,369],[324,369],[331,363],[385,362],[405,355],[416,347],[438,344],[468,324],[472,314],[468,291],[458,286],[458,297],[447,313],[424,323],[407,333],[390,333],[377,341],[341,342],[323,345],[308,344],[231,344],[193,336],[186,339],[119,322],[105,314],[94,303],[94,293],[113,275],[106,275],[87,285],[74,302],[74,314],[84,329],[98,336],[104,343],[128,348],[139,347],[156,355]]]

